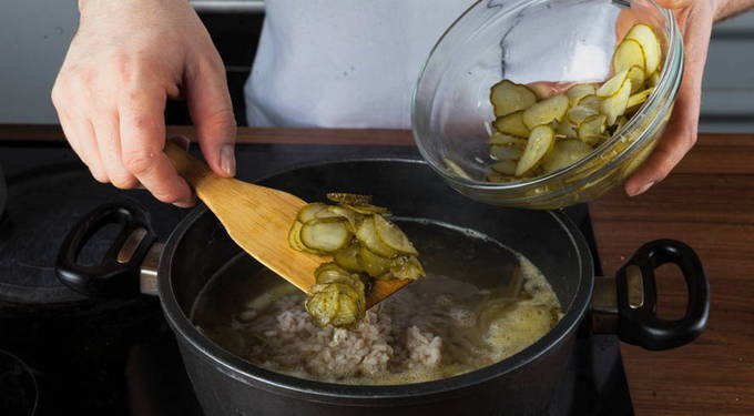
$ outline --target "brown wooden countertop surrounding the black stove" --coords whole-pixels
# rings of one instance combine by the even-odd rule
[[[186,128],[171,128],[186,133]],[[58,128],[1,126],[0,140],[61,140]],[[244,143],[412,145],[389,130],[241,129]],[[663,182],[630,199],[614,190],[591,204],[600,257],[614,272],[643,243],[670,237],[702,257],[712,292],[704,334],[666,352],[623,345],[636,415],[754,415],[754,135],[702,135]],[[662,268],[659,311],[679,316],[685,287]],[[664,277],[664,278],[663,278]]]

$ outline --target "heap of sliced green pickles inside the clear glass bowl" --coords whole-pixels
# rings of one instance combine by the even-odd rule
[[[528,101],[519,106],[506,102],[510,111],[496,111],[497,132],[488,142],[492,162],[486,181],[536,177],[584,158],[623,129],[649,99],[660,82],[662,59],[656,32],[642,23],[633,26],[615,47],[613,75],[600,84],[539,82],[523,88],[501,81],[496,85],[499,91],[526,91]]]

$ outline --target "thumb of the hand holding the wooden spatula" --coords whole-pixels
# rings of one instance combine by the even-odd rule
[[[236,122],[218,55],[201,62],[186,73],[186,101],[204,159],[223,176],[235,175]]]

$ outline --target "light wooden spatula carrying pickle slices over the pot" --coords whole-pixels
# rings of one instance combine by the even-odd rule
[[[288,231],[305,201],[283,191],[220,176],[175,143],[167,143],[165,153],[236,244],[296,287],[308,292],[315,284],[314,270],[330,257],[303,253],[288,245]],[[367,307],[410,282],[376,281],[367,294]]]

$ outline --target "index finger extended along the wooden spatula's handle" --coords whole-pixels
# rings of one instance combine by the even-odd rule
[[[194,204],[191,189],[163,152],[164,110],[162,90],[141,85],[128,93],[119,109],[122,161],[157,200],[191,206]]]

